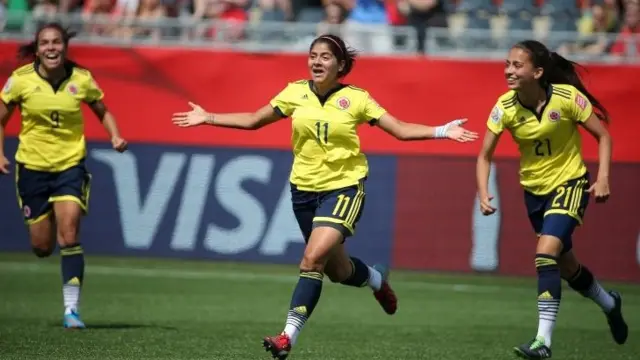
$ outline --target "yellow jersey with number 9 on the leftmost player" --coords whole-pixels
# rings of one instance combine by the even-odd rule
[[[102,100],[104,94],[88,70],[65,65],[67,76],[52,84],[40,76],[37,66],[31,63],[15,70],[0,100],[20,107],[16,162],[31,170],[60,172],[86,156],[81,103]]]

